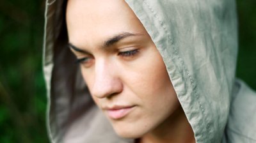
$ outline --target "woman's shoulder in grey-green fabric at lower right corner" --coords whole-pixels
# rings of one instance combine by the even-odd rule
[[[225,141],[256,142],[256,93],[242,80],[234,86],[228,123],[225,128]]]

